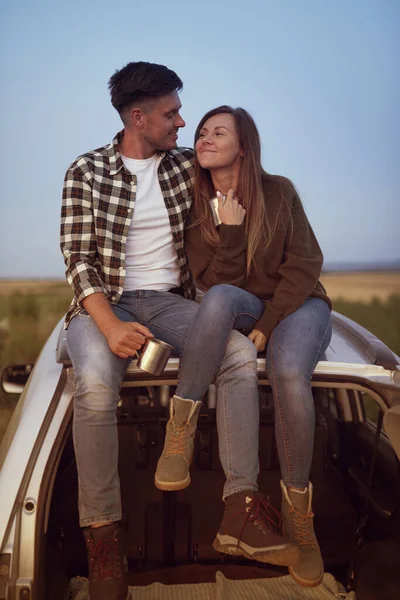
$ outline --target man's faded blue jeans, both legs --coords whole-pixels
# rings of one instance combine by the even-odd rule
[[[139,290],[125,292],[112,309],[122,321],[146,325],[181,355],[199,305],[169,292]],[[105,336],[85,312],[72,319],[67,346],[76,379],[73,435],[80,525],[117,521],[121,518],[121,499],[116,408],[131,359],[119,358],[110,350]],[[210,356],[210,349],[201,349],[201,359],[188,369],[184,392],[188,398],[201,398],[217,371],[214,381],[219,420],[223,422],[220,436],[228,457],[223,467],[225,473],[232,471],[229,486],[224,489],[226,496],[257,488],[258,389],[256,351],[250,340],[232,331],[228,339],[225,336],[222,347],[218,370],[219,363],[213,362],[216,359]]]

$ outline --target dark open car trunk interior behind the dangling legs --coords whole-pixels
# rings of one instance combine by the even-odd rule
[[[398,460],[384,431],[377,438],[376,427],[367,420],[357,415],[353,422],[343,420],[337,390],[318,387],[313,393],[313,511],[325,571],[344,585],[353,571],[358,600],[398,598]],[[199,418],[191,485],[180,492],[161,492],[153,481],[168,418],[161,388],[126,387],[121,394],[119,471],[130,585],[211,582],[217,571],[229,579],[286,575],[284,568],[220,555],[212,548],[222,517],[224,484],[215,409],[204,405]],[[360,392],[349,392],[349,401],[351,394]],[[38,573],[43,589],[39,597],[46,600],[64,598],[73,577],[87,576],[70,426],[63,443],[52,490],[49,483],[47,533],[41,536],[44,544],[37,546],[43,557],[40,563],[45,565]],[[272,393],[268,386],[260,386],[259,486],[277,509],[279,480]],[[364,522],[358,539],[357,529]]]

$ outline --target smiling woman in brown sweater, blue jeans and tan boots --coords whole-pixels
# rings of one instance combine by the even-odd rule
[[[300,561],[289,570],[301,585],[318,585],[323,563],[309,482],[315,424],[310,380],[331,337],[331,304],[318,281],[322,253],[294,186],[262,169],[259,134],[245,110],[222,106],[208,112],[196,130],[195,148],[194,203],[185,243],[196,282],[209,291],[187,334],[177,396],[190,398],[185,392],[188,374],[205,348],[207,360],[211,353],[215,367],[219,365],[232,328],[246,332],[257,351],[267,348],[283,526],[301,551]],[[216,195],[218,226],[210,206]],[[242,415],[245,411],[244,398]],[[221,429],[229,436],[222,426],[220,438]],[[257,441],[255,435],[255,451]],[[257,489],[256,477],[248,489]],[[226,505],[230,497],[224,490]],[[229,517],[229,506],[226,513]],[[223,523],[214,547],[229,551],[224,541]]]

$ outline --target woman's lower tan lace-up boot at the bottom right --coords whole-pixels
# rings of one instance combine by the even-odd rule
[[[309,483],[304,492],[298,492],[288,490],[281,481],[281,488],[283,531],[300,548],[300,561],[289,567],[289,573],[299,585],[315,587],[324,576],[324,563],[314,533],[312,485]]]

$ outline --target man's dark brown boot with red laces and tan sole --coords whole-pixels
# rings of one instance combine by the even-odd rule
[[[299,560],[295,543],[279,534],[280,515],[261,492],[245,490],[228,496],[213,547],[225,554],[241,555],[273,565]]]

